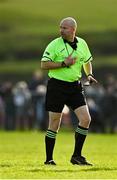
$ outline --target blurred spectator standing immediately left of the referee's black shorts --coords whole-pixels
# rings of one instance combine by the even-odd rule
[[[47,126],[47,112],[44,108],[46,93],[45,83],[42,71],[35,71],[29,82],[29,89],[32,95],[32,107],[34,109],[33,118],[35,119],[35,127],[41,130],[45,130]]]

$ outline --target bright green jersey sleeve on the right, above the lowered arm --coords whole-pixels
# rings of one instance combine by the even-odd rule
[[[88,63],[89,61],[92,61],[93,58],[92,58],[91,52],[89,50],[89,47],[85,41],[84,41],[84,46],[85,46],[85,48],[84,48],[85,49],[84,63]]]

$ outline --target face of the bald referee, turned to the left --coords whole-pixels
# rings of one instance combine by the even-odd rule
[[[69,39],[69,37],[73,36],[74,28],[69,25],[67,22],[62,22],[60,24],[60,34],[64,39]]]

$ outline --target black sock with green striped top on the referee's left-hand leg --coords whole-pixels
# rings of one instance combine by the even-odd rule
[[[53,150],[55,145],[56,132],[47,130],[45,136],[45,145],[46,145],[46,161],[53,159]]]

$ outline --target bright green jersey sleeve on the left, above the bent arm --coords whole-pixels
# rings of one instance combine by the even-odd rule
[[[55,59],[55,42],[52,41],[46,47],[41,61],[53,61]]]

